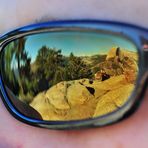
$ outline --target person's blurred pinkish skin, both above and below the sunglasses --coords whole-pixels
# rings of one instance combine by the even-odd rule
[[[39,20],[103,19],[148,27],[147,0],[0,0],[0,34]],[[0,148],[148,148],[148,91],[128,119],[102,128],[56,131],[24,124],[0,99]]]

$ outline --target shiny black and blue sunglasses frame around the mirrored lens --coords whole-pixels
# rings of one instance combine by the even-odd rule
[[[46,127],[49,129],[80,129],[84,127],[101,127],[116,123],[127,118],[133,112],[136,111],[144,92],[147,88],[148,80],[148,50],[143,49],[143,43],[141,38],[148,41],[148,29],[139,26],[111,22],[111,21],[98,21],[98,20],[70,20],[70,21],[52,21],[40,24],[34,24],[26,27],[22,27],[11,31],[0,37],[0,63],[1,63],[1,52],[4,47],[11,41],[31,34],[38,34],[43,32],[56,32],[64,30],[78,30],[78,31],[107,31],[115,34],[119,34],[130,39],[137,47],[139,54],[139,74],[135,90],[132,93],[129,100],[120,109],[109,113],[107,115],[85,120],[74,120],[74,121],[43,121],[33,118],[26,117],[20,113],[10,101],[6,88],[3,83],[1,68],[0,66],[0,96],[8,109],[8,111],[20,121],[29,125],[38,127]],[[146,61],[147,60],[147,61]]]

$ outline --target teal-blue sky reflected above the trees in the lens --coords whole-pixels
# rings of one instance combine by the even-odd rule
[[[112,47],[119,46],[130,51],[136,51],[135,45],[129,40],[102,33],[92,32],[50,32],[31,35],[26,41],[26,51],[35,60],[38,50],[46,45],[62,50],[68,56],[71,52],[77,56],[90,56],[107,53]]]

